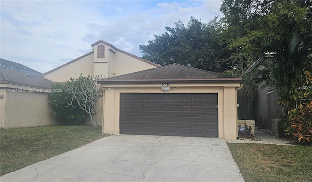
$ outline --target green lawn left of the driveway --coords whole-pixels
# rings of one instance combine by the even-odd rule
[[[90,126],[0,129],[0,175],[106,137]]]

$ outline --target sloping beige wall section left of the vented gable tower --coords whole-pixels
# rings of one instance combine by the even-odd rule
[[[82,57],[51,73],[47,73],[44,77],[54,82],[65,82],[70,78],[78,78],[80,73],[83,76],[93,75],[93,54]]]

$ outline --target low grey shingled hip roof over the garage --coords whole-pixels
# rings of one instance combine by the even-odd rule
[[[151,83],[159,81],[171,82],[242,82],[242,78],[214,73],[206,70],[170,64],[158,68],[144,70],[136,73],[124,74],[99,80],[100,84],[112,83]]]

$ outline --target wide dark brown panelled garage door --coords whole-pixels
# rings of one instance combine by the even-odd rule
[[[217,138],[217,93],[121,93],[120,134]]]

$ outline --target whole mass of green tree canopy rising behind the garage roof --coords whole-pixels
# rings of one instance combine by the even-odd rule
[[[175,28],[165,27],[165,33],[139,46],[143,58],[241,76],[273,39],[285,37],[285,24],[295,25],[300,37],[312,35],[309,0],[225,0],[220,10],[224,16],[207,23],[191,17],[187,25],[178,20]]]

